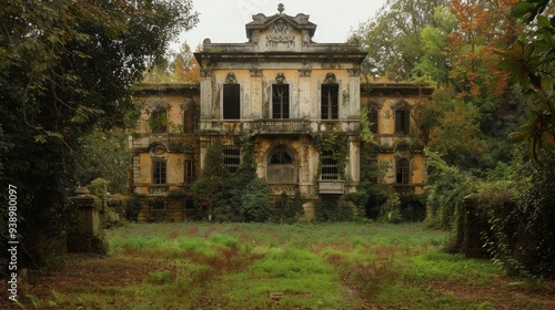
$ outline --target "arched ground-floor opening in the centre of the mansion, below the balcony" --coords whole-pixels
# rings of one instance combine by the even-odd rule
[[[285,147],[275,148],[268,156],[268,183],[296,183],[293,153]]]

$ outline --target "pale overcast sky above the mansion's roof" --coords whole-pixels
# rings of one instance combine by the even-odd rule
[[[310,16],[309,21],[317,25],[312,38],[317,43],[342,43],[349,38],[351,29],[365,22],[385,3],[386,0],[193,0],[194,10],[200,13],[196,27],[180,35],[182,42],[194,50],[205,38],[212,43],[246,42],[244,25],[252,16],[266,17],[278,13],[278,4],[283,3],[283,13],[295,17],[297,13]]]

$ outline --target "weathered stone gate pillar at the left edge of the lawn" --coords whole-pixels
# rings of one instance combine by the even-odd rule
[[[68,252],[107,254],[99,199],[87,187],[78,187],[70,202],[78,209],[77,227],[68,236]]]

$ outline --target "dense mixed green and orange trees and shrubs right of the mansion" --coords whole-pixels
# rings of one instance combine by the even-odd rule
[[[553,265],[553,245],[541,236],[555,227],[545,192],[553,188],[555,149],[553,12],[549,0],[390,0],[353,33],[369,52],[367,80],[436,87],[414,118],[427,146],[427,223],[463,231],[463,197],[481,193],[487,202],[481,206],[492,210],[484,213],[493,229],[486,241],[496,244],[491,254],[513,261],[507,269],[516,264],[541,275],[553,275],[545,267]],[[488,199],[498,195],[487,193],[507,193],[518,207],[493,211]],[[507,240],[537,255],[504,246]]]

